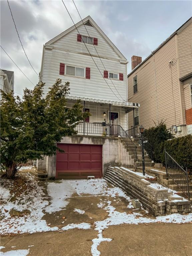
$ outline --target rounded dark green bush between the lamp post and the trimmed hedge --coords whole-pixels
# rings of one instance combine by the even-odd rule
[[[166,125],[163,121],[159,122],[158,125],[145,129],[144,138],[151,144],[154,151],[154,161],[156,163],[161,163],[162,152],[163,152],[163,142],[168,139],[172,139],[172,134],[167,130]]]

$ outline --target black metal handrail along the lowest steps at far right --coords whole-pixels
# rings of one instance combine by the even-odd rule
[[[190,200],[190,191],[189,191],[189,180],[187,168],[183,169],[174,159],[170,156],[166,149],[165,151],[165,167],[167,179],[168,176],[175,182],[175,184],[180,188],[180,190],[188,197]]]

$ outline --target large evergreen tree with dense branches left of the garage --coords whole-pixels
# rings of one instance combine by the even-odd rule
[[[69,82],[61,79],[43,95],[44,83],[25,89],[23,99],[1,91],[1,167],[13,178],[22,163],[56,154],[57,142],[77,134],[75,127],[89,113],[77,101],[66,107]]]

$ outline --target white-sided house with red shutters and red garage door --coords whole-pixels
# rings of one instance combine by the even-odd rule
[[[90,16],[43,46],[45,93],[57,78],[69,81],[67,106],[80,99],[91,116],[77,126],[77,136],[58,144],[65,153],[38,161],[39,170],[56,178],[99,178],[110,164],[130,165],[119,140],[126,136],[127,112],[139,104],[127,102],[127,63]]]

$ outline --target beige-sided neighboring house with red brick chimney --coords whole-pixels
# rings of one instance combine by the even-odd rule
[[[132,57],[128,101],[140,108],[128,113],[128,127],[165,121],[175,136],[192,134],[192,17],[143,62]]]

